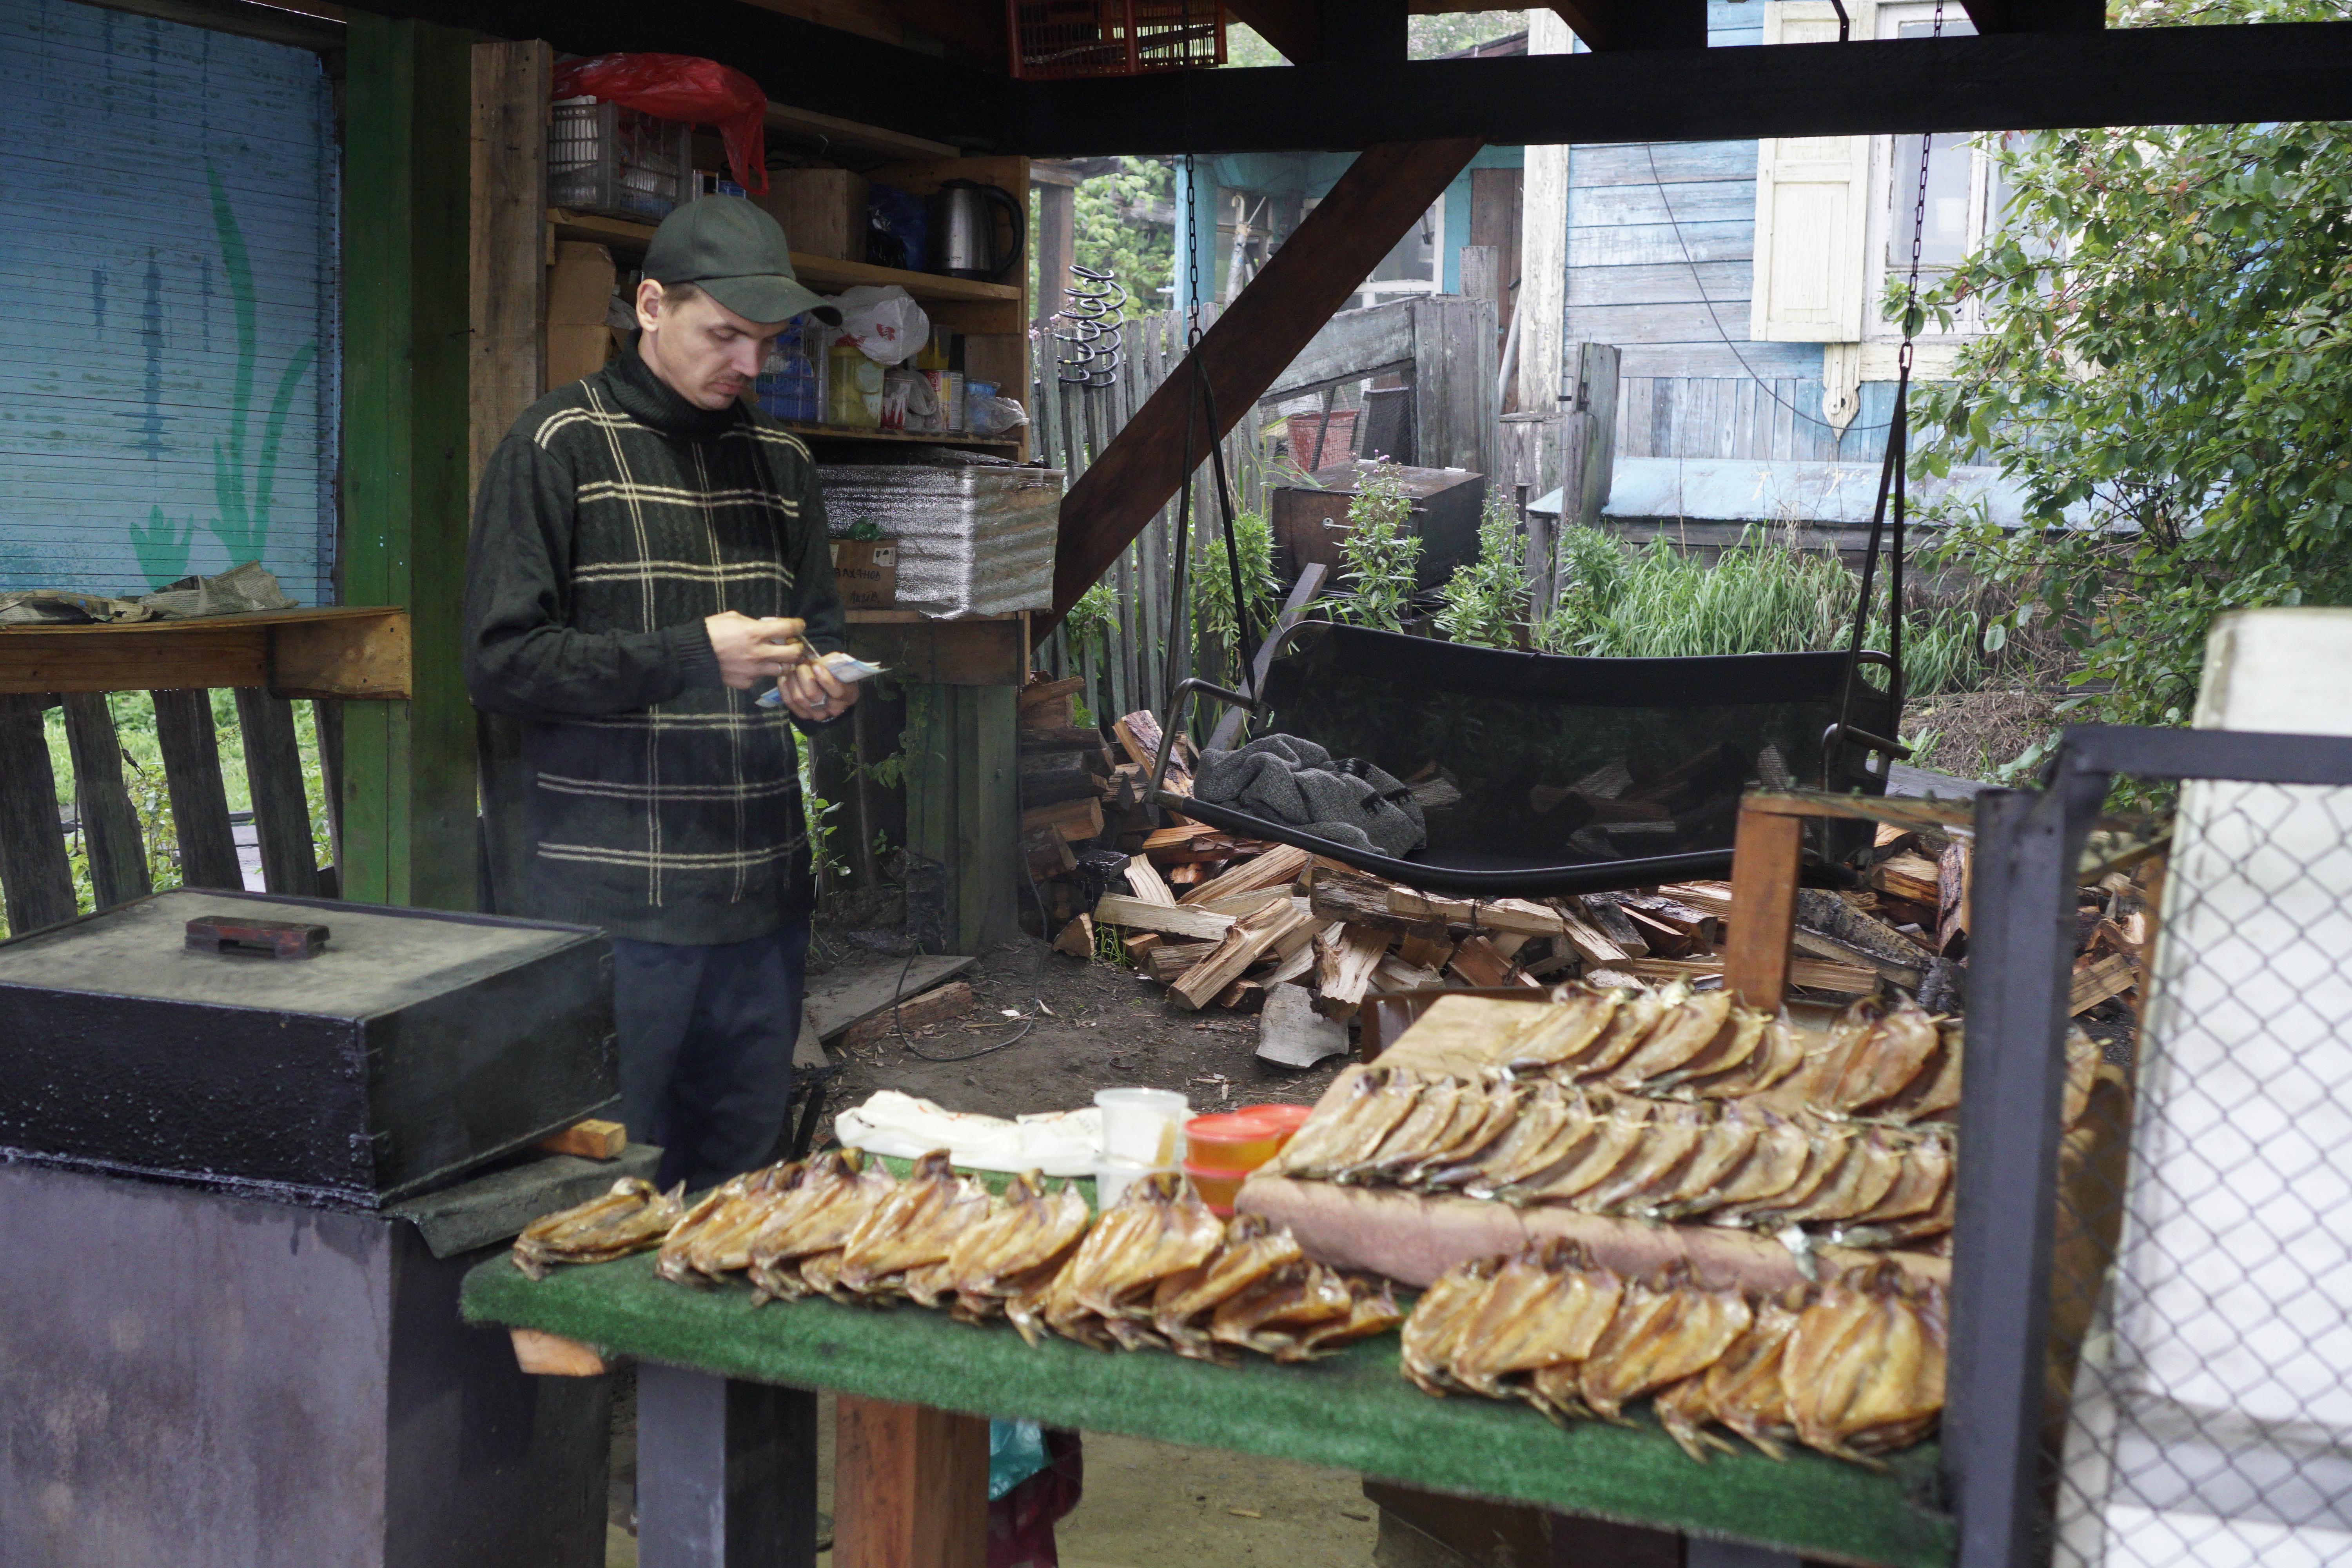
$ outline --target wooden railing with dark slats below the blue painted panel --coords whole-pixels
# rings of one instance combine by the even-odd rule
[[[397,609],[303,609],[136,625],[0,630],[0,896],[9,933],[80,907],[56,811],[47,710],[64,708],[87,886],[106,910],[153,891],[146,832],[122,773],[106,693],[146,691],[183,886],[242,889],[212,691],[238,693],[261,879],[273,893],[334,896],[336,851],[318,863],[294,701],[315,708],[327,837],[341,846],[341,703],[409,696],[409,618]]]

